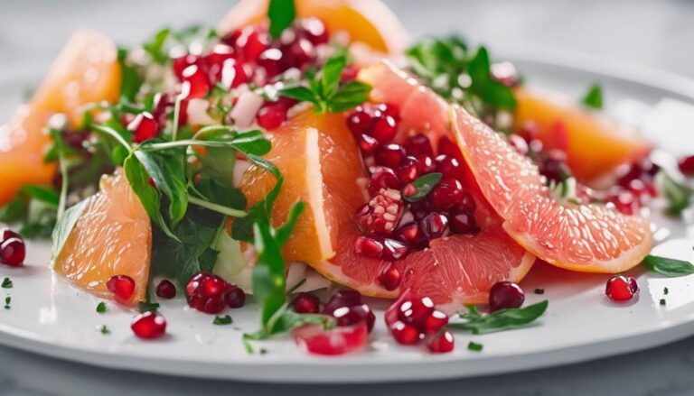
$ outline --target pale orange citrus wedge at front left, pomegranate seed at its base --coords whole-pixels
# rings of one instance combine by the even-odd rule
[[[115,275],[135,281],[130,302],[145,300],[152,227],[122,169],[101,177],[100,191],[87,198],[54,270],[80,288],[110,299],[106,283]]]

